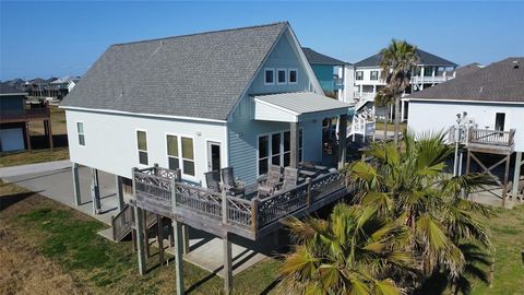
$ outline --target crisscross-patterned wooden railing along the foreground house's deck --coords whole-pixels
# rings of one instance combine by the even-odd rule
[[[133,170],[136,205],[167,216],[177,214],[179,213],[177,210],[182,209],[252,232],[294,214],[344,188],[344,176],[333,172],[315,179],[308,179],[297,187],[269,198],[257,197],[246,200],[176,181],[176,172],[168,169],[160,172],[160,169],[154,167]],[[227,214],[226,219],[224,214]]]

